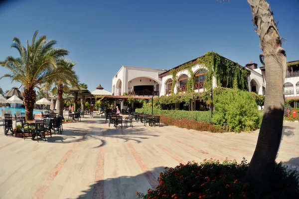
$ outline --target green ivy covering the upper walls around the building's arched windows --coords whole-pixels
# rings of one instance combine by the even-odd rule
[[[235,63],[220,54],[215,52],[208,52],[199,57],[197,62],[189,62],[179,66],[176,69],[171,69],[168,74],[172,76],[173,83],[171,84],[171,92],[174,93],[174,88],[177,83],[177,74],[179,71],[187,70],[189,72],[187,80],[187,93],[194,92],[194,71],[192,67],[195,65],[204,65],[208,70],[206,73],[206,80],[204,88],[210,89],[213,85],[213,77],[216,78],[217,86],[227,88],[239,88],[241,90],[248,90],[248,75],[249,71],[243,68],[238,63]],[[222,81],[226,80],[226,81]],[[226,85],[222,85],[222,84]]]

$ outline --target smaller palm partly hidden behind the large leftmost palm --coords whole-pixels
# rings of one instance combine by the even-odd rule
[[[76,63],[67,61],[67,60],[60,60],[57,63],[57,69],[59,70],[60,68],[64,70],[64,77],[63,78],[56,78],[54,81],[48,81],[46,83],[47,88],[49,88],[51,85],[54,84],[54,88],[52,89],[52,94],[55,93],[57,94],[57,109],[58,109],[58,114],[63,115],[63,91],[68,91],[69,86],[78,86],[78,77],[73,70],[73,67],[75,66]]]

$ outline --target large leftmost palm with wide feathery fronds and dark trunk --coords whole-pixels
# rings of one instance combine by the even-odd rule
[[[25,105],[26,120],[33,119],[33,107],[36,99],[35,88],[40,88],[45,82],[63,79],[65,70],[57,63],[64,60],[69,52],[63,48],[54,48],[56,40],[46,41],[46,36],[40,36],[37,40],[38,31],[34,32],[31,44],[26,41],[26,48],[17,37],[13,38],[11,47],[15,48],[20,57],[12,56],[0,62],[0,65],[10,70],[3,77],[9,77],[12,81],[20,82],[24,87],[23,100]]]

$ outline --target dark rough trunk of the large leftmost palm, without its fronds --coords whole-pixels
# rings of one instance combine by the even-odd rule
[[[36,99],[36,93],[33,88],[24,88],[23,100],[25,105],[25,118],[26,121],[33,120],[33,108]]]

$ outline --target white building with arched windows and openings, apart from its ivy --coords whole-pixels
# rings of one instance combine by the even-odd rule
[[[204,91],[205,74],[207,68],[204,65],[199,65],[195,58],[189,62],[193,62],[191,67],[194,75],[194,92]],[[225,58],[226,59],[226,58]],[[297,61],[298,62],[298,61]],[[289,62],[292,63],[292,62]],[[184,63],[185,64],[185,63]],[[187,91],[187,79],[190,73],[187,69],[179,70],[180,64],[172,69],[177,70],[176,83],[173,93],[185,93]],[[265,94],[266,79],[265,79],[265,67],[258,68],[256,63],[248,63],[244,68],[250,71],[248,76],[249,92],[255,92],[259,95]],[[298,67],[297,67],[298,68]],[[134,67],[134,66],[122,66],[112,79],[112,96],[110,98],[114,100],[120,99],[117,103],[121,106],[121,109],[128,107],[128,104],[124,101],[129,96],[140,99],[149,99],[152,96],[169,95],[171,93],[171,84],[173,82],[172,75],[169,74],[170,70],[160,70],[152,68]],[[227,80],[221,80],[223,85]],[[213,77],[213,87],[221,86],[217,85],[216,78]],[[299,99],[299,70],[292,71],[288,78],[286,78],[285,94],[288,97],[298,97]],[[195,100],[194,110],[199,110],[199,103]],[[175,108],[178,105],[175,105]]]

